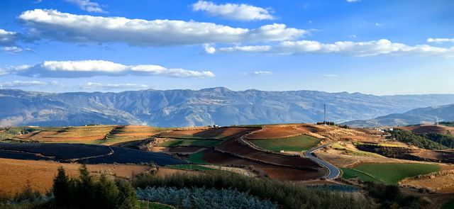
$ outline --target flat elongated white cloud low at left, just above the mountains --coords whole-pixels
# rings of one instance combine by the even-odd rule
[[[45,61],[34,66],[21,65],[6,68],[7,73],[28,77],[94,77],[150,75],[165,77],[214,77],[210,71],[192,71],[165,68],[155,64],[124,65],[104,60]]]

